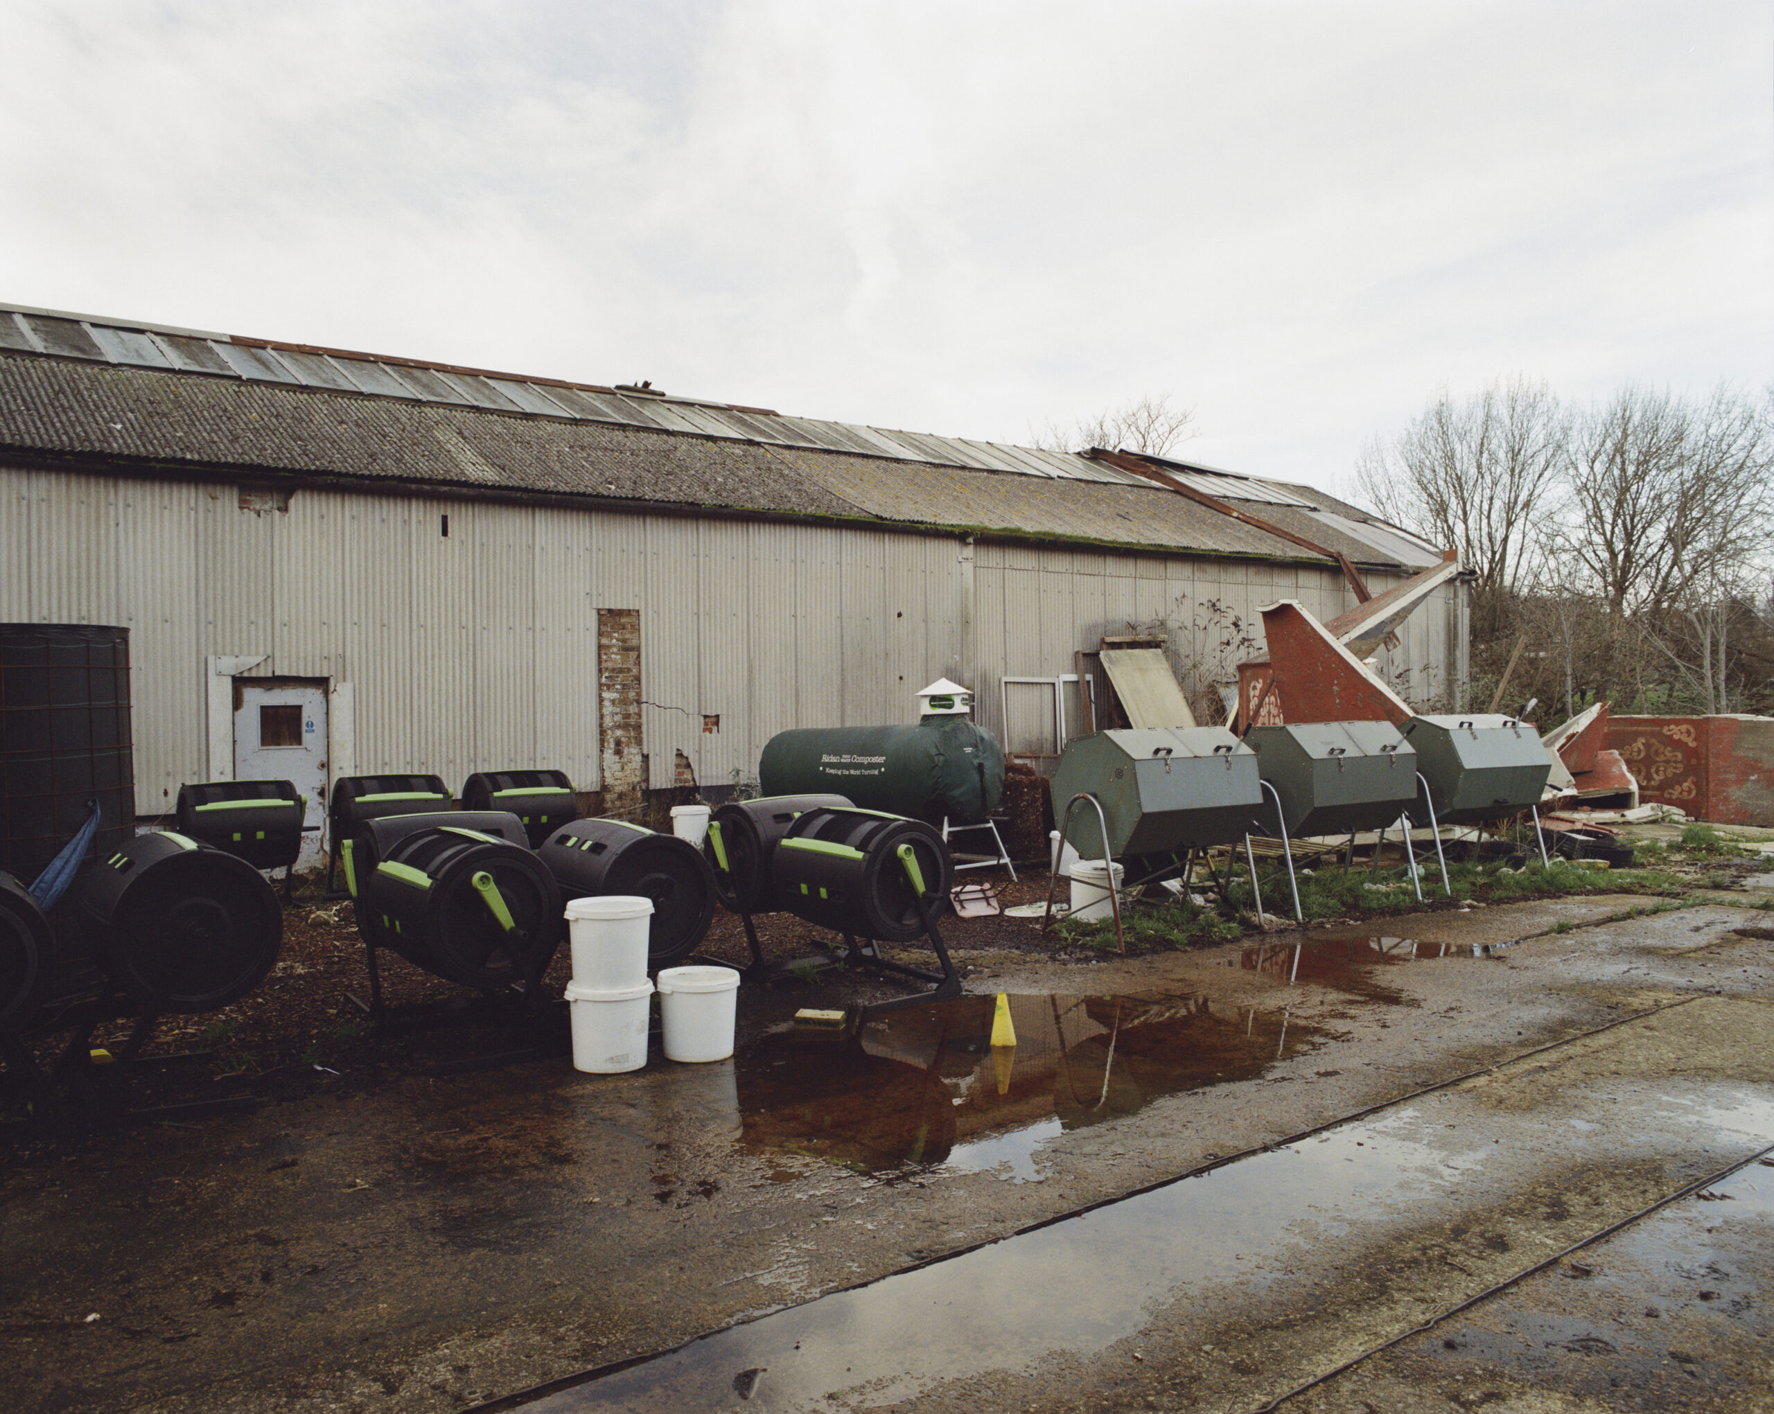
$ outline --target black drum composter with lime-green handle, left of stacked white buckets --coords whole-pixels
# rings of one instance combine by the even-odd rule
[[[390,823],[404,821],[362,829]],[[509,839],[461,825],[420,829],[357,875],[357,908],[374,940],[445,981],[497,992],[527,969],[541,976],[561,946],[561,889]]]

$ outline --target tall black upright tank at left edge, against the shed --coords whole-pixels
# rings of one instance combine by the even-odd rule
[[[130,630],[0,625],[0,869],[30,884],[92,802],[87,862],[135,834]]]

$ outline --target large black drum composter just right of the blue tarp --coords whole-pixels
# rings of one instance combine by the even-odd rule
[[[87,875],[80,912],[112,981],[165,1011],[239,1001],[284,942],[284,910],[264,875],[172,830],[126,839]]]

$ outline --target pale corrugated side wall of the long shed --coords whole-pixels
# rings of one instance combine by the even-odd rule
[[[593,789],[596,610],[639,609],[651,784],[671,784],[681,749],[724,786],[754,775],[784,727],[908,720],[912,694],[944,674],[972,672],[981,724],[1002,731],[1002,676],[1071,672],[1075,649],[1128,623],[1169,623],[1231,676],[1261,651],[1258,605],[1352,603],[1329,570],[866,529],[326,491],[254,513],[232,486],[16,468],[0,468],[0,617],[131,628],[144,814],[206,774],[208,655],[355,683],[358,772],[459,788],[474,770],[559,766]],[[1256,648],[1219,648],[1233,616]],[[1396,656],[1419,678],[1451,671],[1448,619],[1409,623]]]

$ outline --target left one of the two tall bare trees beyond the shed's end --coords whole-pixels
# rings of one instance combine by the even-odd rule
[[[1545,383],[1508,378],[1464,401],[1442,390],[1396,438],[1370,440],[1355,465],[1362,495],[1382,516],[1456,548],[1478,573],[1487,637],[1543,532],[1568,428]]]

